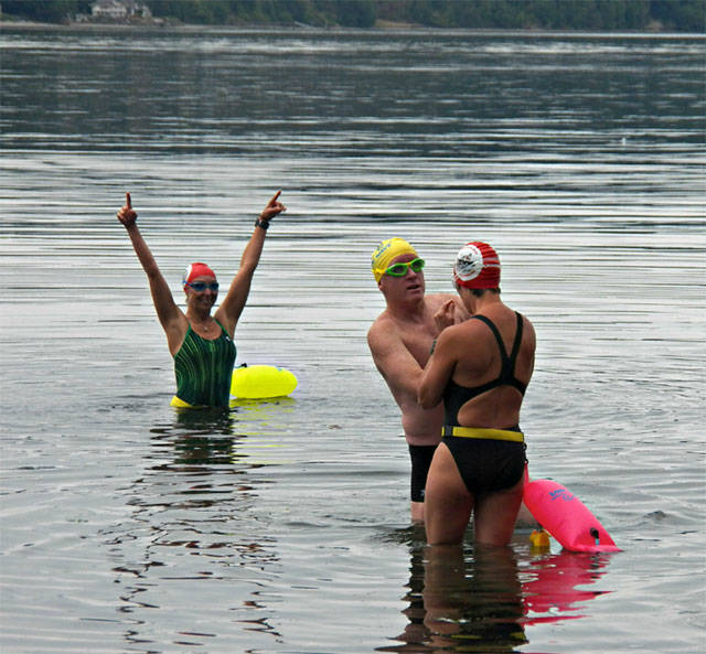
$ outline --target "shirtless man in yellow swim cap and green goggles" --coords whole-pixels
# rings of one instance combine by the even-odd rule
[[[367,344],[402,410],[411,458],[411,519],[422,522],[427,472],[443,425],[443,403],[429,409],[417,404],[421,374],[439,334],[434,314],[449,300],[457,304],[457,322],[469,314],[451,293],[425,294],[424,260],[402,238],[381,243],[371,267],[387,308],[368,330]]]

